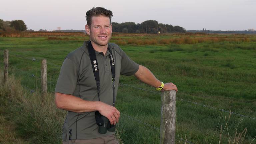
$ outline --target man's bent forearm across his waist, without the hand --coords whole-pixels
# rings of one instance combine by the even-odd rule
[[[57,108],[72,112],[99,111],[99,101],[86,101],[73,95],[55,93],[55,104]]]

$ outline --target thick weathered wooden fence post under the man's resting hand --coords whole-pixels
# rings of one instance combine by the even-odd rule
[[[176,91],[164,91],[161,101],[160,144],[175,144]]]

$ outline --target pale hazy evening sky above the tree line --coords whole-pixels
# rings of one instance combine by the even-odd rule
[[[256,0],[0,0],[0,19],[23,20],[28,29],[84,30],[86,11],[105,7],[112,22],[158,23],[186,30],[256,29]]]

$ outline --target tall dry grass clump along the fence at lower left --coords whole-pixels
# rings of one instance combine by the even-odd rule
[[[1,111],[8,114],[8,124],[13,123],[13,135],[30,143],[61,143],[65,112],[56,109],[53,93],[48,93],[44,98],[37,92],[27,93],[20,81],[10,76],[7,83],[1,83],[0,94],[2,100],[8,99],[8,104]]]

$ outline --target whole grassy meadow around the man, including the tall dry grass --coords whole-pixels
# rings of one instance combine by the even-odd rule
[[[0,143],[13,138],[15,143],[60,143],[66,112],[54,106],[55,84],[65,56],[88,39],[80,34],[0,38],[1,65],[3,50],[9,49],[13,75],[8,84],[1,82]],[[176,143],[256,142],[256,35],[114,33],[111,42],[159,80],[178,87]],[[40,95],[43,58],[46,104]],[[116,107],[120,143],[159,143],[160,92],[134,76],[121,76]],[[7,129],[15,134],[8,137]]]

